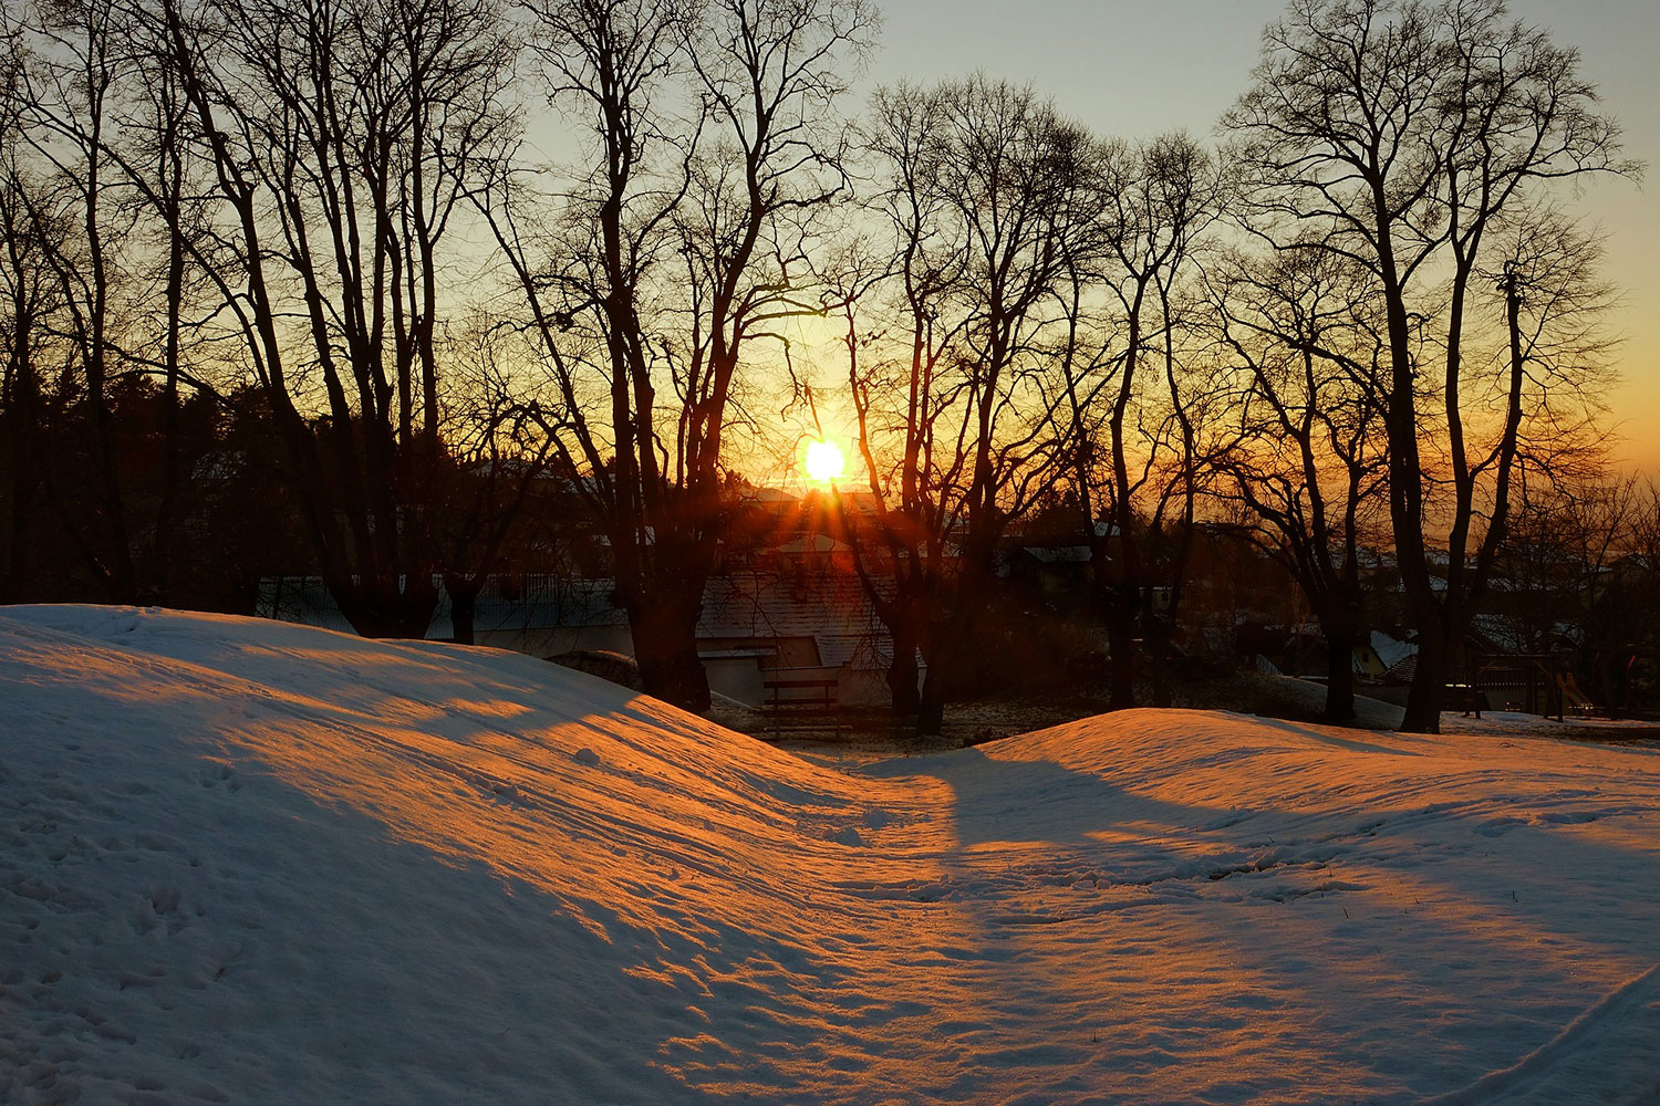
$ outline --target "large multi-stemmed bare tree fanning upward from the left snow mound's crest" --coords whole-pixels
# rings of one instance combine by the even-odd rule
[[[359,632],[420,637],[442,569],[445,250],[510,124],[495,7],[166,0],[129,18],[211,166],[216,249],[189,250],[246,343],[329,590]]]

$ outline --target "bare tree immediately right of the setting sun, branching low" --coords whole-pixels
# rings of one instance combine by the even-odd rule
[[[938,733],[945,703],[976,683],[998,541],[1054,474],[1038,378],[1054,293],[1096,226],[1097,151],[1031,90],[984,78],[886,90],[873,114],[903,353],[850,358],[850,386],[891,572],[891,590],[872,592],[895,640],[895,703],[910,701],[920,648],[918,730]]]

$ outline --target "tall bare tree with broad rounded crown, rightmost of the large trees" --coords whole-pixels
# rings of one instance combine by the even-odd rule
[[[1496,227],[1552,181],[1630,169],[1618,131],[1579,55],[1511,22],[1502,0],[1295,0],[1227,123],[1255,226],[1365,265],[1384,305],[1389,512],[1419,650],[1404,726],[1434,731],[1529,415],[1526,390],[1504,383],[1516,366],[1467,348],[1482,335],[1471,293]]]

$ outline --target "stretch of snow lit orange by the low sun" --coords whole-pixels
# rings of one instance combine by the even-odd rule
[[[1657,798],[1605,749],[1125,711],[848,774],[654,700],[591,710],[528,658],[322,652],[261,652],[304,672],[287,690],[116,648],[56,650],[43,672],[98,672],[131,710],[148,686],[204,761],[546,892],[684,1011],[656,1063],[707,1094],[950,1101],[979,1073],[1038,1098],[1107,1088],[1104,1070],[1147,1101],[1275,1098],[1282,1071],[1328,1099],[1386,1098],[1363,1060],[1394,1043],[1356,1003],[1456,1026],[1479,1013],[1472,982],[1594,995],[1645,967],[1529,914],[1529,894],[1557,894],[1536,857],[1660,861],[1648,822],[1577,821],[1585,766],[1628,779],[1633,811]],[[1536,783],[1519,786],[1522,758]],[[1418,862],[1429,817],[1467,826],[1467,852]],[[1308,821],[1338,831],[1278,829]],[[1512,864],[1484,856],[1504,834],[1527,846],[1514,899],[1467,882]],[[1421,957],[1383,955],[1401,932]],[[717,1007],[754,1020],[725,1036]]]

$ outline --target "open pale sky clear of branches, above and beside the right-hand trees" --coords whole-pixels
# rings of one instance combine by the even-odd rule
[[[1031,83],[1102,134],[1212,133],[1245,91],[1265,23],[1282,0],[888,0],[868,86],[931,81],[983,70]],[[1590,184],[1582,211],[1607,235],[1605,275],[1622,289],[1609,318],[1623,345],[1622,383],[1609,396],[1615,456],[1660,474],[1660,7],[1653,0],[1552,3],[1511,10],[1552,28],[1584,55],[1627,154],[1650,163],[1647,187]]]

